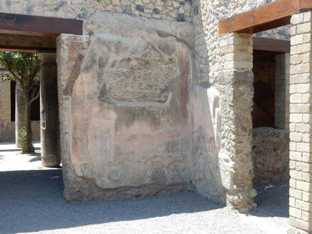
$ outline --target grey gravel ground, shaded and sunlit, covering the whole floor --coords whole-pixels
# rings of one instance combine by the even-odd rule
[[[0,233],[278,234],[286,233],[288,226],[286,182],[271,183],[274,187],[256,184],[258,208],[249,215],[187,191],[127,200],[66,202],[61,169],[41,168],[40,155],[17,153],[8,144],[0,144]]]

